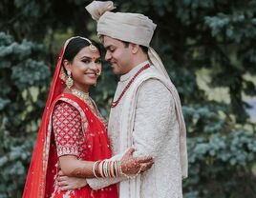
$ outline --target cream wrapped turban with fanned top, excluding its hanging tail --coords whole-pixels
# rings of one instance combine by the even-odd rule
[[[139,13],[112,12],[112,1],[94,1],[86,10],[97,21],[97,34],[149,47],[157,25]]]

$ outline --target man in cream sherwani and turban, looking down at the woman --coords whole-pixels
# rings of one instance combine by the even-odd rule
[[[154,157],[154,166],[135,178],[87,179],[99,189],[119,182],[120,198],[181,198],[187,177],[186,131],[181,101],[157,52],[149,47],[156,25],[138,13],[112,12],[113,3],[86,7],[97,21],[105,59],[121,75],[109,120],[114,159],[127,148]]]

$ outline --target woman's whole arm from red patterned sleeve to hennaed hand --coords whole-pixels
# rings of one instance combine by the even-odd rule
[[[57,104],[53,110],[53,133],[61,170],[66,176],[70,177],[94,178],[96,175],[97,177],[110,177],[108,174],[102,174],[103,163],[102,166],[94,166],[95,162],[78,159],[81,138],[81,131],[79,130],[81,128],[81,118],[79,116],[77,109],[65,102]],[[145,168],[152,166],[151,158],[134,158],[132,156],[133,151],[128,151],[123,158],[115,159],[116,163],[117,160],[121,162],[118,164],[121,169],[118,174],[117,171],[113,170],[113,168],[117,168],[117,166],[113,166],[114,163],[105,163],[104,168],[108,166],[116,172],[116,176],[119,176],[120,172],[125,174],[137,173],[140,165],[145,165]]]

